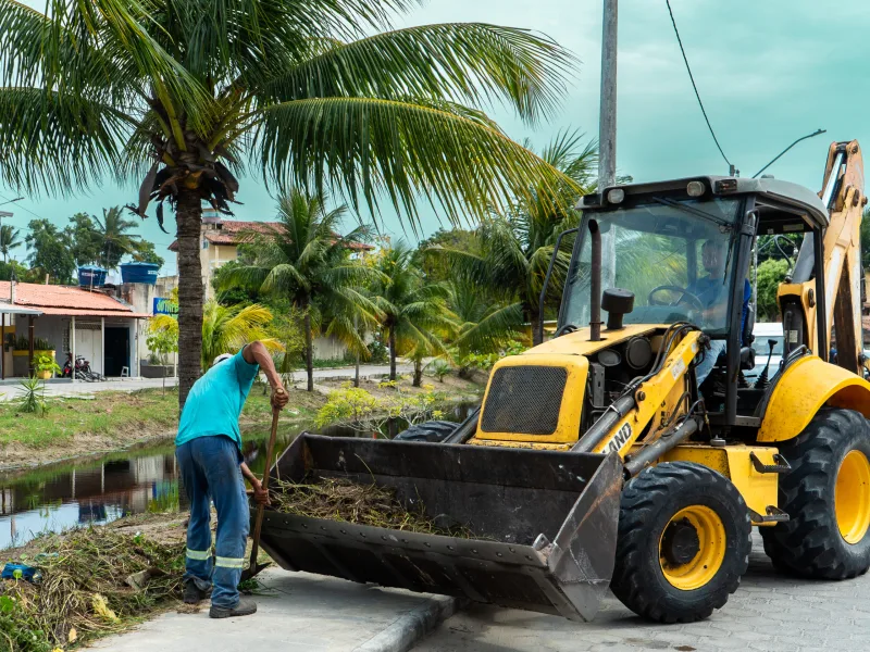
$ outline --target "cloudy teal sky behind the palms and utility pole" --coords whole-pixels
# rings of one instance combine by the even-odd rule
[[[42,0],[25,0],[41,9]],[[729,160],[751,176],[782,149],[817,128],[828,133],[804,141],[766,174],[818,190],[833,140],[870,143],[870,85],[865,83],[870,40],[870,4],[859,0],[671,0],[683,45],[707,114]],[[726,174],[707,130],[680,54],[664,0],[621,0],[619,8],[617,167],[635,181]],[[509,109],[489,114],[515,140],[545,145],[560,129],[598,133],[601,0],[428,0],[396,21],[397,26],[486,22],[544,33],[570,49],[580,63],[560,111],[530,128]],[[850,38],[855,35],[855,38]],[[870,147],[870,145],[868,146]],[[11,223],[26,227],[45,217],[59,226],[70,215],[135,201],[138,179],[127,187],[105,181],[71,197],[26,197],[11,210]],[[0,187],[0,204],[17,197]],[[270,220],[275,200],[257,178],[241,180],[238,220]],[[150,213],[152,214],[152,210]],[[383,231],[415,241],[401,221],[384,210]],[[10,223],[10,221],[5,221]],[[167,218],[167,230],[173,220]],[[422,236],[449,226],[428,211]],[[153,217],[139,233],[174,273],[173,237]],[[22,258],[16,250],[16,258]]]

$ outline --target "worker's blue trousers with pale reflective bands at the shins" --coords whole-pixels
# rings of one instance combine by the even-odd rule
[[[203,591],[214,582],[211,603],[238,605],[238,582],[245,565],[250,512],[239,464],[238,446],[229,437],[197,437],[175,450],[190,500],[185,580]],[[215,554],[211,553],[210,501],[217,510]]]

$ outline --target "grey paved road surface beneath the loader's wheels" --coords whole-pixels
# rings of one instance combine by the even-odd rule
[[[637,652],[870,650],[870,575],[810,581],[773,572],[755,534],[749,572],[724,609],[701,623],[654,625],[612,595],[592,623],[472,606],[414,652]]]

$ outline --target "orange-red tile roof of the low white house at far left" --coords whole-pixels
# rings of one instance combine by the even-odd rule
[[[0,280],[0,300],[8,302],[10,283]],[[47,315],[82,315],[96,317],[147,317],[134,313],[128,305],[101,292],[91,292],[65,286],[18,283],[15,285],[15,304],[35,308]]]

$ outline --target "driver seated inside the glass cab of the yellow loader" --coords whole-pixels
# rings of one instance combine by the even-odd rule
[[[698,278],[692,283],[686,291],[698,298],[705,306],[704,317],[708,324],[724,325],[728,313],[729,284],[725,279],[726,263],[726,240],[710,239],[701,247],[701,264],[707,272],[707,276]],[[746,314],[749,310],[749,301],[753,298],[753,288],[747,279],[743,280],[743,311],[741,313],[741,340],[743,340],[743,328],[746,324]],[[710,350],[705,352],[704,360],[698,363],[695,374],[698,387],[710,375],[719,356],[725,350],[725,340],[711,339]]]

